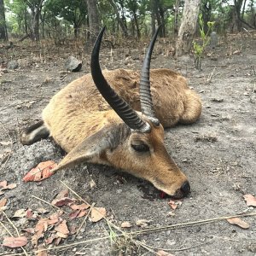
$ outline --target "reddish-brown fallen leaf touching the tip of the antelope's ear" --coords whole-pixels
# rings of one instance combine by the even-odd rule
[[[23,181],[41,181],[47,177],[50,177],[54,174],[52,170],[57,166],[54,161],[49,160],[41,162],[35,168],[32,168],[26,175],[23,177]]]

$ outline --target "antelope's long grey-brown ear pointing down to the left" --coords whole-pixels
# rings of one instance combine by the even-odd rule
[[[54,172],[81,162],[108,165],[108,160],[104,159],[105,151],[117,148],[130,133],[131,129],[124,123],[104,126],[102,130],[73,148],[61,160]]]

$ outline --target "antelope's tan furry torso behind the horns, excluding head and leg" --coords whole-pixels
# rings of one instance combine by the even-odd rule
[[[105,70],[103,75],[131,108],[140,111],[139,73],[116,69]],[[183,76],[169,69],[153,69],[150,81],[154,110],[165,128],[178,122],[190,124],[200,117],[200,97],[189,89]],[[44,108],[43,119],[50,135],[69,152],[84,138],[119,117],[102,98],[91,75],[87,74],[53,96]]]

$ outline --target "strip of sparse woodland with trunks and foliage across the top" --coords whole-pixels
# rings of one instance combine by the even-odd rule
[[[208,21],[222,35],[256,29],[255,0],[0,0],[0,40],[91,44],[104,25],[114,46],[119,38],[148,38],[161,24],[160,37],[177,39],[183,55],[199,35],[199,14],[206,32]]]

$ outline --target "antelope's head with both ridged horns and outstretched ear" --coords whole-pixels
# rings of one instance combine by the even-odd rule
[[[142,112],[134,111],[108,84],[99,64],[99,51],[105,27],[99,33],[91,55],[91,75],[111,106],[99,119],[102,129],[84,139],[61,160],[58,169],[78,162],[114,166],[143,177],[168,195],[189,194],[187,177],[174,163],[164,143],[164,129],[155,116],[150,93],[149,69],[157,32],[143,61],[140,81]]]

